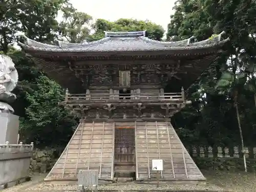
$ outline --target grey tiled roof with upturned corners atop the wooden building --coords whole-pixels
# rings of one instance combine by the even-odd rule
[[[163,42],[145,37],[145,31],[137,32],[105,32],[105,37],[83,44],[71,44],[57,41],[58,45],[42,44],[32,39],[26,38],[25,44],[19,45],[26,50],[44,52],[121,52],[121,51],[163,51],[163,50],[197,50],[218,47],[229,39],[221,39],[224,32],[214,38],[199,42],[193,42],[195,38],[190,37],[181,41]]]

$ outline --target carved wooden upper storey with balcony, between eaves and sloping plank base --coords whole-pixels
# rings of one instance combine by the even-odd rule
[[[86,119],[172,117],[185,106],[184,90],[164,93],[160,88],[169,78],[179,78],[180,63],[81,66],[69,63],[70,69],[88,86],[87,93],[67,92],[62,104]],[[130,88],[131,93],[120,95],[120,88]]]

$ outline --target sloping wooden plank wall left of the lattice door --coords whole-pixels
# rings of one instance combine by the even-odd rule
[[[99,179],[113,179],[113,122],[81,122],[46,181],[77,179],[79,169],[98,170]]]

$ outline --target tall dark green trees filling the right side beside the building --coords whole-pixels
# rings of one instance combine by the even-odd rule
[[[187,126],[194,127],[194,133],[199,131],[199,135],[207,130],[208,137],[211,137],[208,141],[218,141],[209,129],[212,127],[211,129],[215,130],[215,133],[219,133],[219,138],[222,137],[223,133],[226,134],[226,136],[223,135],[222,141],[230,141],[230,138],[233,137],[233,142],[237,142],[235,139],[237,136],[234,134],[237,133],[236,129],[240,130],[238,133],[241,133],[239,126],[241,128],[243,122],[248,125],[246,136],[251,137],[250,135],[253,133],[249,130],[253,131],[254,121],[251,122],[252,119],[247,119],[251,115],[245,115],[244,113],[248,114],[248,110],[249,114],[254,113],[253,109],[246,105],[248,100],[246,101],[245,98],[251,99],[249,95],[255,93],[254,67],[248,67],[251,66],[249,63],[255,63],[253,59],[255,58],[254,34],[256,25],[253,20],[255,17],[255,3],[251,1],[180,0],[176,3],[174,10],[175,13],[170,16],[170,24],[168,25],[168,39],[179,40],[195,35],[198,40],[203,40],[211,34],[217,34],[221,31],[225,31],[230,37],[226,51],[220,54],[210,68],[202,74],[198,83],[198,90],[194,90],[195,93],[200,93],[200,99],[195,98],[195,95],[198,94],[190,95],[192,100],[199,101],[202,117],[191,114],[190,118],[196,117],[197,122],[192,121],[193,124],[190,123]],[[227,62],[228,59],[229,62]],[[218,84],[217,87],[220,89],[220,79],[223,78],[225,72],[231,73],[233,80],[229,82],[230,87],[228,89],[227,87],[224,88],[225,94],[220,95],[218,94],[220,90],[215,89],[215,87]],[[246,77],[241,72],[244,72]],[[234,91],[238,87],[239,92]],[[235,96],[234,93],[239,94]],[[239,103],[243,103],[243,114],[237,116],[236,114],[239,113],[236,113],[236,111]],[[183,110],[181,114],[187,110],[188,108]],[[206,111],[207,113],[205,113]],[[242,117],[240,125],[233,124],[233,122],[236,122],[235,119],[232,119],[233,115]],[[174,117],[177,122],[181,121],[181,119],[177,119],[178,116],[180,115],[177,114]],[[206,119],[208,120],[206,121]],[[213,121],[213,119],[215,120]],[[189,121],[191,119],[188,118],[187,122],[189,123]],[[203,129],[200,128],[202,125]],[[220,133],[222,134],[220,135]],[[227,134],[228,139],[226,139]],[[221,140],[218,142],[221,142]],[[253,139],[247,143],[251,144],[252,142]]]

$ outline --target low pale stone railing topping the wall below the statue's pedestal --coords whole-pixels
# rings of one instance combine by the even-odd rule
[[[17,153],[17,152],[32,152],[34,148],[34,143],[31,144],[23,144],[23,142],[19,142],[19,144],[9,144],[6,141],[5,144],[0,144],[0,154],[1,153]]]

